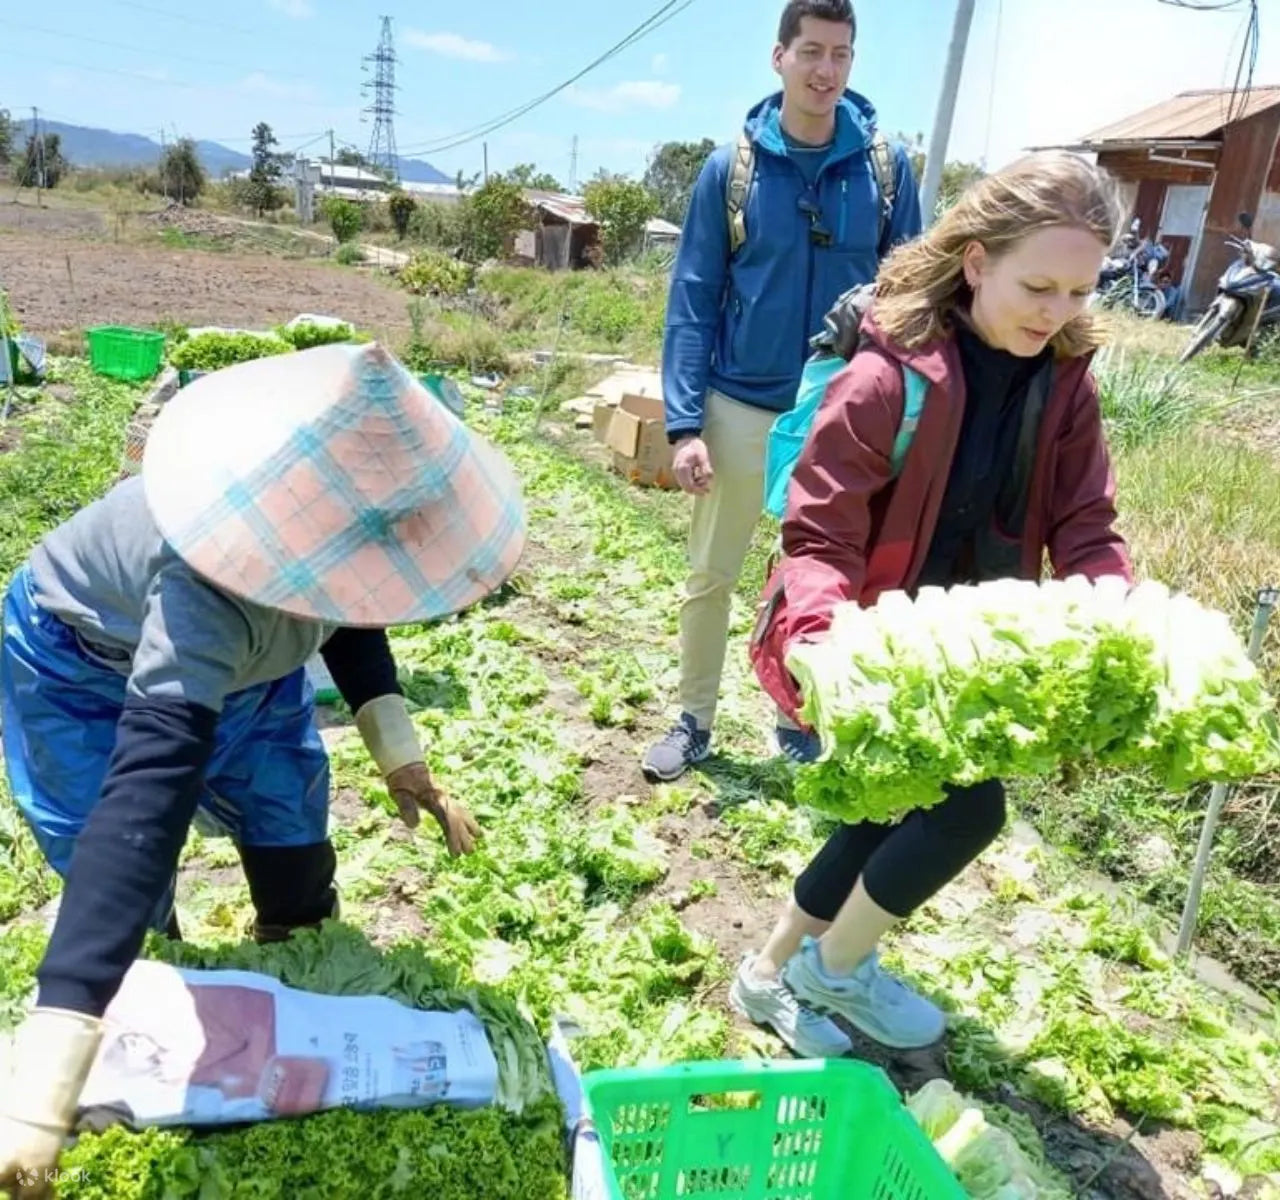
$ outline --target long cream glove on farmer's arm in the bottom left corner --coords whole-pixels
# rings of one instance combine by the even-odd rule
[[[0,1081],[0,1190],[49,1195],[101,1040],[101,1021],[61,1008],[35,1008],[18,1027]]]

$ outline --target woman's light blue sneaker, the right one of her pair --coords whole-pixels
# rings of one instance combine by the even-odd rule
[[[818,943],[804,945],[782,970],[782,977],[801,1003],[844,1017],[868,1038],[897,1050],[933,1045],[945,1032],[942,1009],[883,971],[872,952],[852,975],[828,975]]]

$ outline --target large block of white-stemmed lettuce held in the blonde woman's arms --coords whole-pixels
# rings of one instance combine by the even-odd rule
[[[1147,768],[1170,789],[1280,764],[1274,701],[1226,617],[1156,582],[886,592],[838,605],[787,665],[823,741],[797,800],[847,821],[1071,762]]]

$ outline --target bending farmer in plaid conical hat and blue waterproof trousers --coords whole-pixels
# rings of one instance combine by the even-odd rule
[[[209,375],[161,413],[141,477],[54,530],[4,605],[14,801],[65,879],[36,1007],[0,1080],[0,1188],[38,1195],[197,811],[237,842],[260,940],[337,912],[319,651],[401,815],[468,853],[385,628],[456,613],[525,542],[507,461],[378,344]],[[35,1180],[35,1183],[23,1181]]]

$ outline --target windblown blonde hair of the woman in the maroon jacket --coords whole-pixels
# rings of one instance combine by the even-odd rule
[[[1027,155],[970,184],[928,233],[893,251],[876,283],[876,324],[906,349],[946,336],[973,299],[964,275],[972,242],[998,258],[1033,233],[1066,225],[1110,247],[1123,219],[1119,188],[1105,170],[1065,151]],[[1102,344],[1102,331],[1093,313],[1082,312],[1055,335],[1053,352],[1088,353]]]

